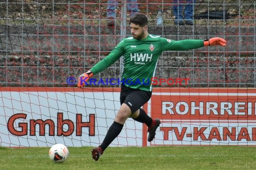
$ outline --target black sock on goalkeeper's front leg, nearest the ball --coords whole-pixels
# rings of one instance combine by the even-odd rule
[[[119,135],[119,133],[122,131],[124,125],[118,122],[112,123],[112,125],[109,127],[107,134],[102,142],[102,144],[99,146],[101,147],[102,151],[104,151],[111,142]]]

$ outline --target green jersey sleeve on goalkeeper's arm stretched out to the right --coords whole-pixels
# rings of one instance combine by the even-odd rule
[[[167,38],[160,38],[163,51],[182,51],[203,47],[203,40],[200,39],[185,39],[185,40],[170,40]]]

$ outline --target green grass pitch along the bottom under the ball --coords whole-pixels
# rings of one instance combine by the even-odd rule
[[[254,170],[256,147],[163,146],[109,147],[98,161],[92,147],[69,147],[70,157],[59,164],[48,147],[0,147],[0,170]]]

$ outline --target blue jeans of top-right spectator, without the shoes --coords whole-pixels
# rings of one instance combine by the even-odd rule
[[[179,4],[179,5],[173,5],[172,9],[173,9],[173,15],[175,16],[175,22],[177,23],[178,21],[183,21],[183,19],[185,19],[185,21],[189,21],[189,20],[193,20],[193,5],[194,5],[194,0],[182,0],[181,2],[179,2],[179,0],[173,0],[173,3],[185,3],[185,5],[183,4]],[[183,17],[183,12],[184,12],[184,17]]]

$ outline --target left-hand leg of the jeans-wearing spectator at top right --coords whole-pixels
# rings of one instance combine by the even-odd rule
[[[183,4],[180,3],[184,3],[184,2],[180,2],[180,0],[173,0],[172,1],[174,3],[174,5],[172,6],[172,10],[173,10],[173,15],[175,16],[174,19],[174,23],[175,25],[184,25],[184,21],[183,21]]]

